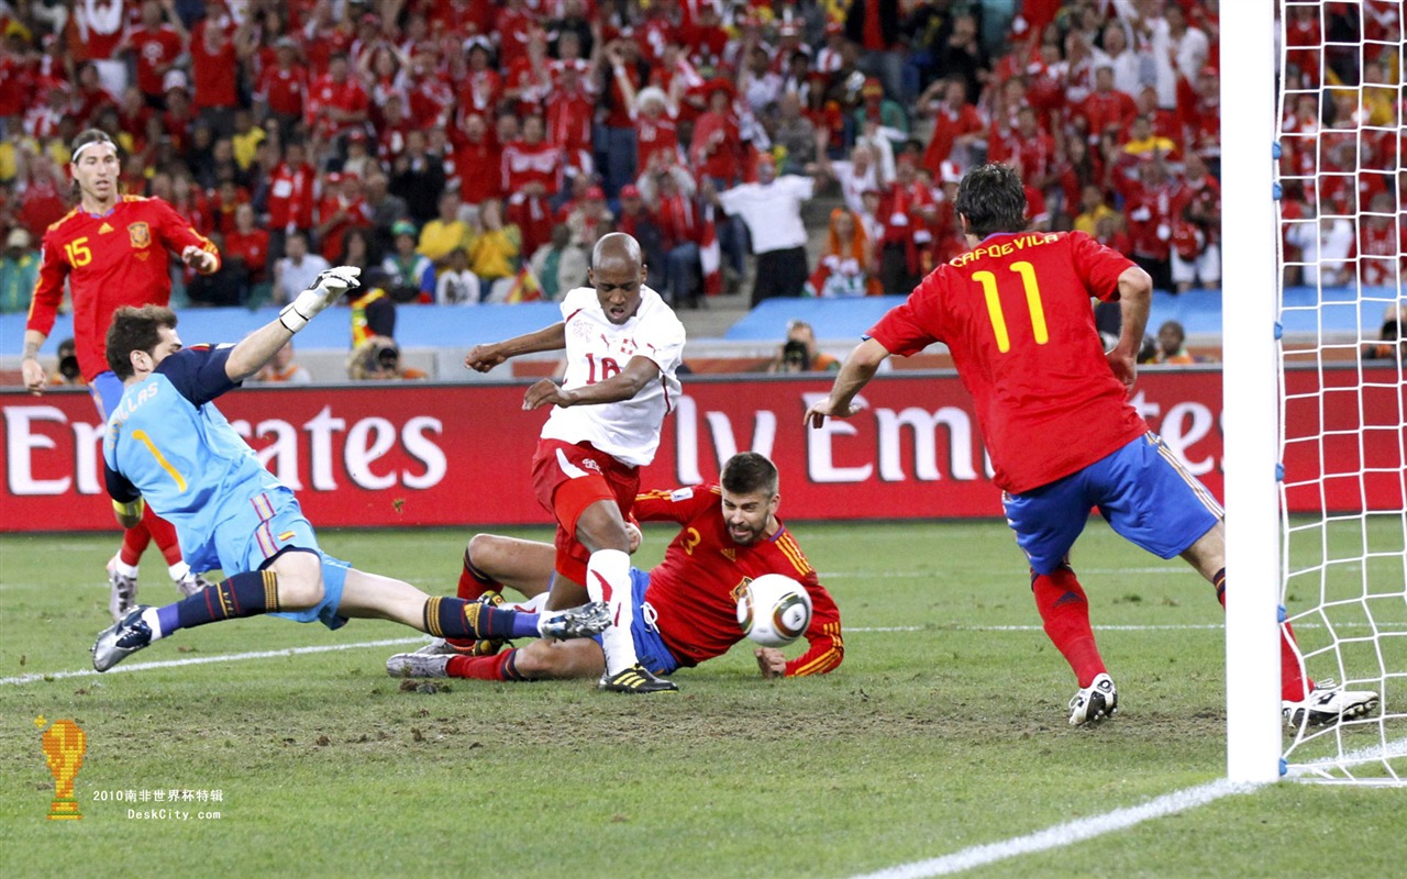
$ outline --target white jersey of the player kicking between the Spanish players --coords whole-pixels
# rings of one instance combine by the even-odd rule
[[[584,406],[553,406],[543,439],[588,442],[622,464],[644,467],[660,447],[664,416],[680,399],[675,371],[684,359],[684,323],[649,287],[640,308],[616,326],[606,319],[595,287],[577,287],[561,300],[567,329],[567,376],[563,388],[581,388],[618,374],[630,357],[649,357],[660,367],[656,381],[632,399]]]

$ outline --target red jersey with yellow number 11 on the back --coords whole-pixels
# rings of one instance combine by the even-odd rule
[[[1021,494],[1148,430],[1109,368],[1089,307],[1092,295],[1117,301],[1131,266],[1083,232],[1000,232],[938,266],[867,335],[905,356],[948,346],[993,481]]]

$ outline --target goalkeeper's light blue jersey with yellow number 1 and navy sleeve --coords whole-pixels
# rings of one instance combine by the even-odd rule
[[[211,402],[239,387],[225,374],[232,346],[179,350],[128,387],[107,421],[103,463],[108,494],[138,495],[176,526],[196,571],[219,567],[215,530],[281,484],[259,464]]]

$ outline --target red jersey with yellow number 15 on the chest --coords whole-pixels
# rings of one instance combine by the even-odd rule
[[[160,198],[122,195],[101,217],[72,210],[44,233],[39,283],[24,328],[49,335],[63,298],[63,278],[73,295],[73,340],[83,378],[106,373],[107,328],[122,305],[166,305],[172,278],[166,250],[197,246],[215,255],[210,239],[196,232]]]

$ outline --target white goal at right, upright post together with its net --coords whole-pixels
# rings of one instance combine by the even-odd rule
[[[1231,781],[1407,783],[1403,6],[1221,6]],[[1379,709],[1282,726],[1279,619]]]

